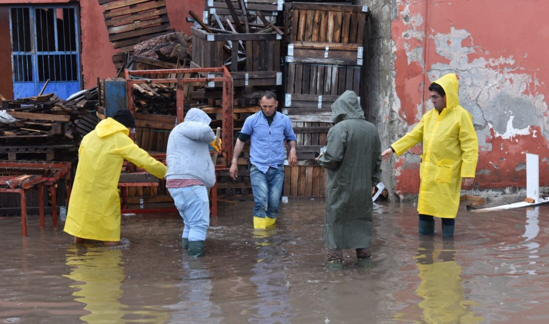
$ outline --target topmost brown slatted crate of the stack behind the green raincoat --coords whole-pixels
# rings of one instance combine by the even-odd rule
[[[288,43],[363,44],[367,18],[366,5],[293,2],[285,8],[284,32]]]

